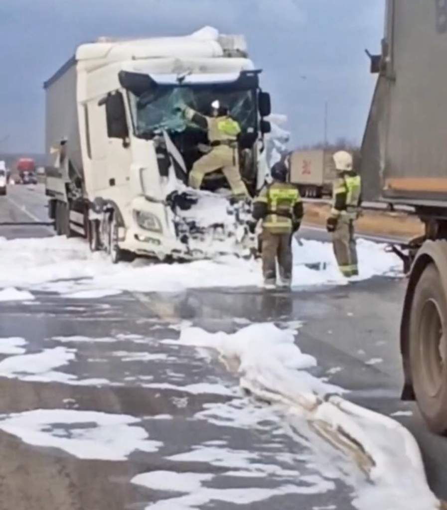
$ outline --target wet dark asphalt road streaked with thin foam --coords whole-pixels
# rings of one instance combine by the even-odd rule
[[[7,199],[0,198],[0,237],[50,235],[46,226],[2,225],[28,223],[33,217],[46,220],[38,189],[10,187]],[[301,235],[326,239],[316,230],[303,229]],[[174,495],[167,490],[177,483],[166,478],[172,471],[209,475],[197,489],[202,500],[197,496],[195,504],[202,507],[214,502],[219,510],[235,508],[242,497],[235,491],[241,489],[248,498],[237,505],[242,509],[352,508],[352,489],[340,480],[323,493],[309,490],[312,477],[321,475],[316,461],[307,462],[315,451],[305,441],[293,441],[268,406],[231,394],[237,380],[216,356],[161,343],[178,338],[183,321],[210,331],[235,331],[249,321],[303,321],[300,347],[317,357],[317,375],[351,390],[349,398],[370,409],[388,415],[411,412],[398,419],[421,445],[433,490],[447,498],[442,469],[447,442],[426,430],[413,404],[399,400],[398,329],[404,292],[404,281],[375,278],[290,294],[214,289],[91,300],[35,293],[33,302],[1,303],[0,338],[20,337],[28,342],[26,355],[45,352],[51,360],[65,361],[61,368],[36,368],[31,375],[8,372],[0,361],[0,417],[76,410],[104,413],[106,418],[126,415],[135,422],[134,427],[123,426],[122,441],[116,445],[107,427],[98,430],[103,418],[96,415],[86,415],[81,424],[47,418],[40,434],[23,429],[20,421],[8,428],[0,420],[0,510],[140,509],[163,499],[168,499],[163,508],[187,508],[193,496],[182,496],[184,489]],[[7,358],[0,354],[0,360]],[[368,364],[374,359],[381,361]],[[35,359],[29,361],[37,365]],[[217,382],[229,393],[216,393]],[[33,420],[34,415],[27,423]],[[136,428],[140,443],[133,437]],[[62,442],[50,447],[48,430]],[[82,453],[67,451],[63,440],[82,438],[83,433],[101,438],[106,451],[91,452],[92,458],[86,458],[85,448],[80,448]],[[128,445],[128,453],[112,460],[123,445]],[[130,481],[159,471],[158,490]],[[309,477],[305,487],[299,481],[303,476]],[[263,490],[271,497],[256,499]],[[185,502],[182,497],[192,499]]]

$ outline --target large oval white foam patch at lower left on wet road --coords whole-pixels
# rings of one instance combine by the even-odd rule
[[[159,441],[133,416],[77,410],[36,410],[0,418],[0,430],[24,443],[59,448],[82,459],[125,461],[134,451],[155,452]]]

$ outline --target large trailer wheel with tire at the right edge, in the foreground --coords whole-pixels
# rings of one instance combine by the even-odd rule
[[[410,366],[421,414],[436,433],[447,432],[447,299],[434,264],[416,286],[410,314]]]

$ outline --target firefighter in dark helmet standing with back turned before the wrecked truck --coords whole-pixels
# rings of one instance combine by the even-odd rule
[[[272,183],[266,185],[254,201],[253,217],[262,222],[262,272],[264,287],[273,289],[277,283],[278,260],[279,287],[290,288],[292,283],[292,236],[299,230],[303,218],[300,192],[287,182],[288,168],[281,161],[271,169]],[[252,224],[252,231],[256,223]]]

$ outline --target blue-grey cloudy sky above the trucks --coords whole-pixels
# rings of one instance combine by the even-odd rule
[[[294,144],[360,141],[375,78],[384,0],[0,0],[0,150],[41,152],[42,83],[101,35],[184,35],[204,25],[243,33]],[[8,139],[5,141],[5,138]]]

